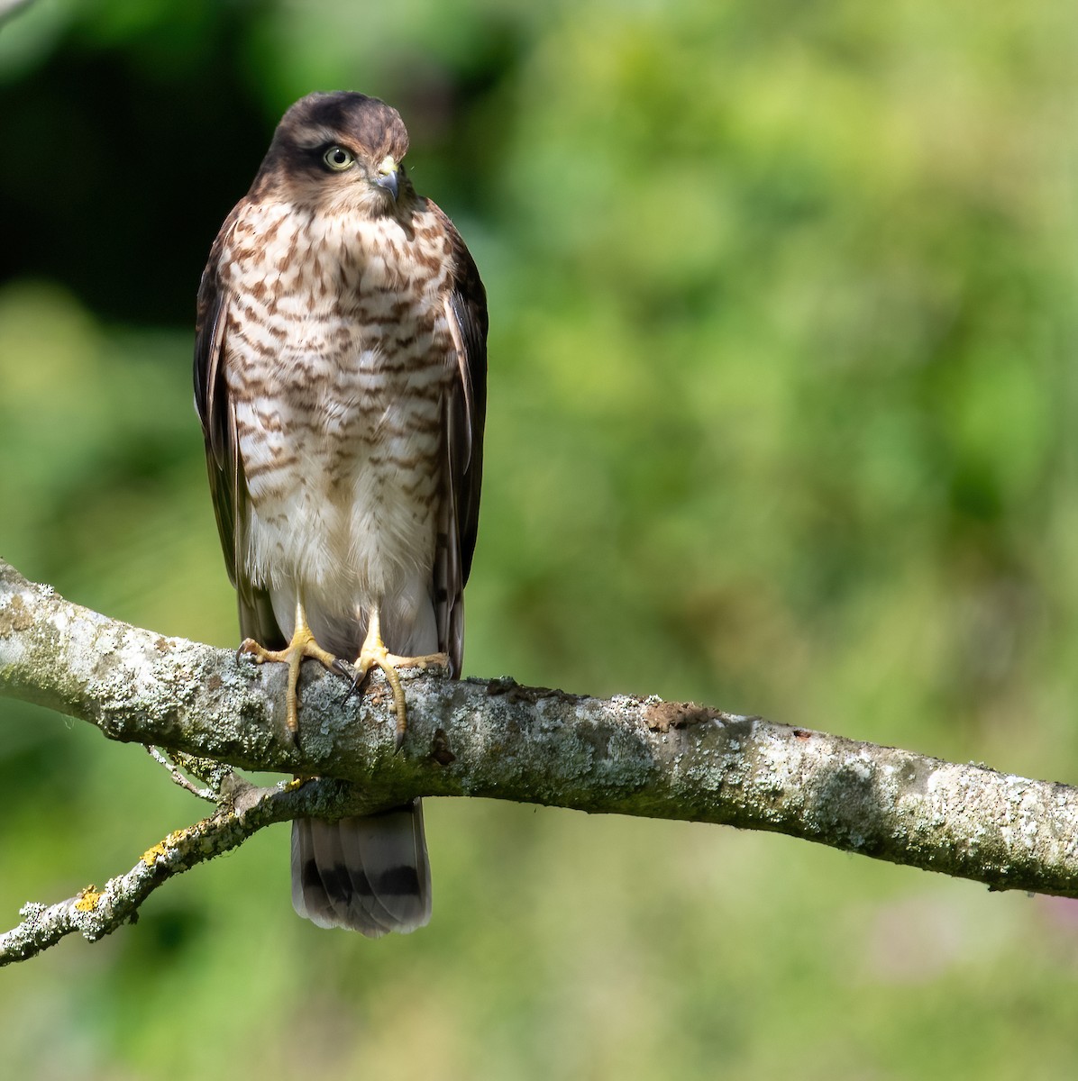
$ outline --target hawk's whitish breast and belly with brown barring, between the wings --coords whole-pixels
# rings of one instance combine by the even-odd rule
[[[389,226],[261,224],[234,239],[225,332],[249,570],[391,591],[434,559],[455,368],[441,282]]]

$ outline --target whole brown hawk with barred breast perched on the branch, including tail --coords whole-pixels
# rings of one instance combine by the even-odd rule
[[[450,219],[415,193],[396,110],[310,94],[214,241],[195,399],[242,649],[362,678],[461,671],[479,515],[487,302]],[[292,903],[365,935],[430,918],[420,801],[292,828]]]

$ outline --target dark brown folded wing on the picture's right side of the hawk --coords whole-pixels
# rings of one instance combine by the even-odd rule
[[[447,403],[445,491],[435,559],[435,612],[439,648],[461,673],[464,652],[464,585],[479,529],[483,424],[487,418],[487,292],[475,261],[453,223],[428,200],[450,241],[453,272],[445,310],[456,347],[450,363],[457,379]]]

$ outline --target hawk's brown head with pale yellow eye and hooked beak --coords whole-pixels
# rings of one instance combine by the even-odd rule
[[[371,217],[414,198],[401,159],[408,131],[396,109],[365,94],[308,94],[281,118],[252,195],[272,191],[322,210]]]

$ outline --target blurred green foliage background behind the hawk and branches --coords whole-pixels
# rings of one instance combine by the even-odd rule
[[[468,673],[1078,780],[1078,9],[37,0],[0,24],[0,551],[237,640],[194,296],[272,125],[383,96],[491,308]],[[203,809],[0,700],[0,924]],[[786,838],[430,801],[435,919],[278,827],[0,975],[11,1077],[1056,1078],[1078,907]]]

